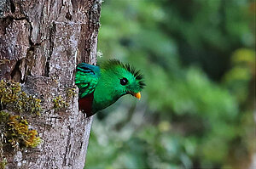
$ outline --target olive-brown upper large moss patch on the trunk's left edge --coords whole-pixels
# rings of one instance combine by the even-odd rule
[[[19,82],[0,81],[0,110],[40,114],[41,99],[21,90]]]

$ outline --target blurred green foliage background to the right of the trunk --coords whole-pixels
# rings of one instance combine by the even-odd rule
[[[255,154],[255,3],[106,0],[98,62],[145,75],[94,116],[87,168],[237,168]]]

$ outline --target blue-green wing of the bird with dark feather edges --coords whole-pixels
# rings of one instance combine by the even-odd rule
[[[75,83],[79,87],[79,98],[94,92],[100,77],[100,68],[96,65],[81,63],[77,66]]]

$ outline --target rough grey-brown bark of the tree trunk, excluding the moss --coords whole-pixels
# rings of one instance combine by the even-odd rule
[[[44,140],[37,148],[4,149],[8,168],[84,167],[91,118],[67,97],[80,62],[96,64],[101,0],[1,0],[0,77],[22,83],[43,100],[41,115],[26,115]],[[78,89],[76,88],[76,92]],[[61,95],[69,106],[55,110]]]

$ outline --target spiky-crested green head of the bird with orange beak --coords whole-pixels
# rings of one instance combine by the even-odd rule
[[[101,65],[102,78],[106,87],[112,88],[111,94],[118,99],[125,94],[131,94],[141,99],[141,91],[145,86],[143,75],[129,64],[122,64],[117,59],[110,59]]]

